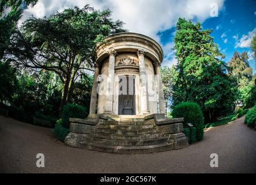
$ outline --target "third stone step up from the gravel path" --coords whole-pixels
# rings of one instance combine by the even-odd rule
[[[140,135],[123,135],[123,134],[107,134],[107,133],[90,133],[89,136],[92,138],[101,138],[101,139],[112,139],[112,140],[141,140],[141,139],[158,139],[162,138],[164,134],[155,133],[155,134],[140,134]]]

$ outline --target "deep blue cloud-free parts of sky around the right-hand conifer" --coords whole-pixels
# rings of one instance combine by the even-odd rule
[[[224,61],[231,60],[234,51],[239,53],[246,51],[250,57],[249,64],[253,68],[253,72],[256,73],[256,64],[252,57],[252,51],[250,47],[247,47],[250,35],[256,32],[255,20],[256,1],[228,0],[224,2],[224,8],[218,13],[218,17],[207,18],[203,21],[202,27],[203,29],[213,29],[211,36],[213,36],[214,42],[219,45],[221,53],[225,55]],[[193,18],[192,21],[196,22],[198,20]],[[173,40],[174,32],[175,27],[158,33],[162,45],[166,45],[166,43]]]

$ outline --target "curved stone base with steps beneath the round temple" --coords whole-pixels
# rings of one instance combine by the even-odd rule
[[[183,119],[170,120],[163,114],[100,117],[97,125],[71,119],[65,143],[72,147],[123,154],[155,153],[188,146],[188,138],[182,133]]]

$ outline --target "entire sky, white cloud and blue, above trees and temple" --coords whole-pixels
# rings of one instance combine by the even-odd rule
[[[98,10],[112,10],[112,18],[124,21],[130,32],[150,36],[159,42],[164,51],[162,65],[177,63],[171,47],[174,46],[175,25],[181,17],[199,21],[203,29],[213,29],[211,36],[225,54],[226,62],[231,60],[234,51],[246,51],[256,73],[250,50],[250,40],[256,32],[254,0],[39,0],[33,8],[24,11],[20,23],[31,15],[39,18],[65,8],[82,8],[86,4]],[[218,6],[217,17],[210,15],[213,4]]]

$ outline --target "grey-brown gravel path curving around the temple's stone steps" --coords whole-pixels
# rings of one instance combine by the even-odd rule
[[[243,122],[210,128],[185,149],[127,155],[72,148],[52,129],[0,116],[0,173],[256,173],[256,131]],[[38,153],[45,168],[36,167]],[[210,167],[211,153],[218,168]]]

